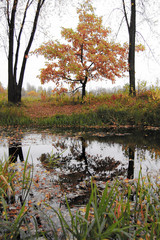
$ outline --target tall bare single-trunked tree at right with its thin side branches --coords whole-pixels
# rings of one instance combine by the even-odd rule
[[[157,35],[157,33],[155,34],[153,30],[155,27],[155,24],[154,24],[155,16],[157,16],[157,14],[154,13],[154,8],[158,7],[159,4],[155,1],[150,1],[150,0],[129,0],[129,1],[122,0],[122,5],[123,5],[124,18],[128,28],[128,35],[129,35],[129,56],[128,56],[129,82],[130,82],[129,94],[135,96],[136,95],[135,50],[137,47],[136,38],[139,36],[142,39],[142,41],[145,43],[145,45],[149,49],[149,52],[151,53],[152,57],[154,58],[154,60],[156,60],[154,53],[152,51],[152,48],[150,46],[150,43],[148,43],[147,39],[145,39],[142,33],[144,32],[142,31],[142,29],[145,31],[149,29],[150,34],[153,34],[154,36]],[[136,28],[137,26],[140,26],[142,24],[143,24],[143,28],[141,28],[142,32],[141,31],[138,32]]]

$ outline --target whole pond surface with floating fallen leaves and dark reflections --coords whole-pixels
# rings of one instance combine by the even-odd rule
[[[26,201],[32,228],[31,216],[38,216],[39,229],[50,231],[48,218],[52,219],[56,229],[60,229],[57,215],[48,206],[60,209],[66,221],[70,222],[66,197],[72,213],[83,210],[83,207],[85,209],[91,193],[91,179],[99,192],[104,190],[106,181],[111,182],[115,178],[122,180],[122,185],[136,182],[133,179],[138,178],[140,169],[143,176],[149,175],[154,181],[159,181],[158,131],[54,130],[0,129],[2,161],[11,156],[10,162],[15,163],[12,170],[20,173],[16,175],[19,179],[28,153],[28,169],[34,166],[32,186]],[[23,188],[16,185],[15,192],[14,202],[9,202],[11,213],[23,203]],[[131,201],[134,201],[134,193]]]

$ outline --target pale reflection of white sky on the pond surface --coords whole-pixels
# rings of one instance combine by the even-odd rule
[[[61,149],[60,144],[64,142],[64,149]],[[22,150],[24,154],[24,159],[27,156],[28,151],[29,154],[29,162],[34,162],[35,165],[40,162],[37,160],[41,154],[43,153],[62,153],[62,156],[67,156],[71,154],[70,147],[74,146],[76,150],[81,153],[81,140],[76,138],[69,137],[60,137],[55,135],[49,135],[46,133],[42,134],[27,134],[22,140]],[[0,141],[0,158],[4,159],[4,156],[8,158],[8,140],[7,137],[1,139]],[[124,150],[122,145],[118,143],[107,143],[107,142],[98,142],[97,140],[86,141],[86,154],[91,156],[98,156],[100,158],[110,157],[114,158],[115,161],[120,161],[121,164],[118,168],[121,168],[122,165],[127,168],[128,167],[128,157],[124,154]],[[75,160],[72,160],[75,164]],[[137,178],[138,172],[142,166],[142,172],[145,174],[146,172],[151,172],[152,174],[156,174],[160,170],[160,158],[155,159],[155,154],[151,156],[149,151],[144,151],[144,149],[138,148],[135,150],[135,161],[134,161],[134,176]]]

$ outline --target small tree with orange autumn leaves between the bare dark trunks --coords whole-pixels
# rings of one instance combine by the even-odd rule
[[[62,44],[49,41],[34,51],[48,62],[41,69],[41,83],[53,81],[57,87],[69,84],[72,91],[82,88],[91,80],[122,77],[127,70],[127,47],[109,41],[110,30],[103,27],[102,18],[94,13],[89,0],[77,9],[77,29],[62,28],[61,35],[68,41]]]

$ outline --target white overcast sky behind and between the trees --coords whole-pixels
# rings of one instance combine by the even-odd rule
[[[94,0],[93,6],[96,9],[96,15],[103,17],[104,26],[111,28],[113,39],[120,43],[127,42],[128,32],[125,21],[123,21],[123,25],[117,35],[121,19],[123,17],[121,0]],[[37,32],[37,37],[32,45],[32,50],[39,47],[43,42],[46,42],[49,39],[60,40],[61,27],[72,27],[75,29],[78,22],[76,7],[76,4],[68,4],[68,6],[63,7],[59,11],[57,9],[56,12],[51,14],[52,16],[47,17],[47,34],[42,35],[40,32]],[[146,81],[148,85],[155,85],[157,84],[158,79],[160,79],[160,66],[158,63],[160,56],[158,34],[160,34],[160,30],[159,19],[157,17],[159,9],[155,4],[147,7],[146,15],[149,16],[150,20],[152,20],[151,23],[149,23],[149,20],[147,20],[149,24],[147,21],[144,21],[144,18],[146,18],[145,16],[143,16],[143,18],[141,16],[137,16],[137,40],[145,45],[146,50],[143,53],[136,54],[136,83],[139,81]],[[141,35],[143,35],[143,37],[141,37]],[[0,56],[0,82],[6,88],[7,57],[3,48],[0,49]],[[36,88],[41,86],[37,75],[39,74],[40,68],[44,67],[44,64],[45,60],[42,57],[30,56],[28,58],[23,84],[24,88],[27,88],[27,83],[34,85]],[[123,79],[117,79],[115,84],[112,84],[110,80],[98,83],[90,82],[87,84],[87,90],[90,91],[97,88],[119,88],[123,87],[126,83],[129,83],[128,76]],[[44,84],[43,88],[48,88],[49,86],[54,88],[54,84],[52,82]]]

